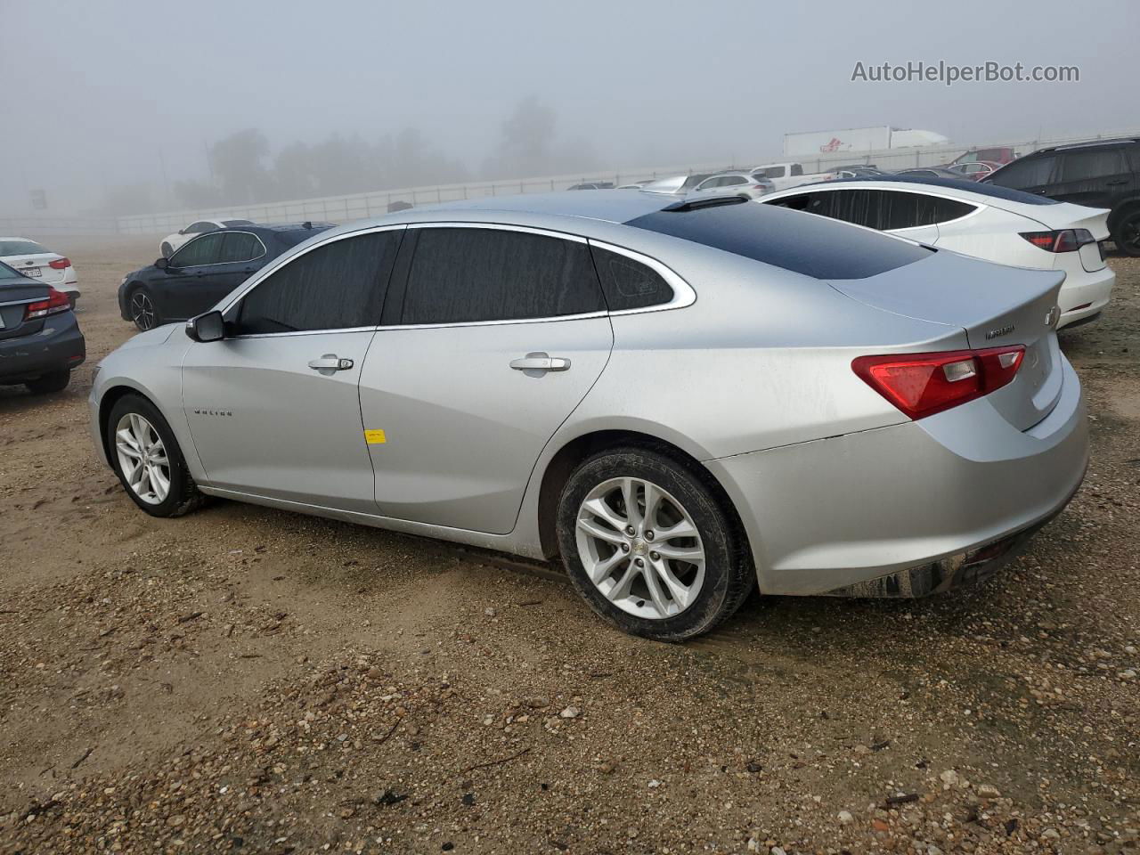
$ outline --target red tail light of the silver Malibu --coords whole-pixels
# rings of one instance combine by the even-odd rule
[[[858,357],[852,361],[864,383],[911,418],[923,418],[990,394],[1013,380],[1025,345],[942,353]]]

